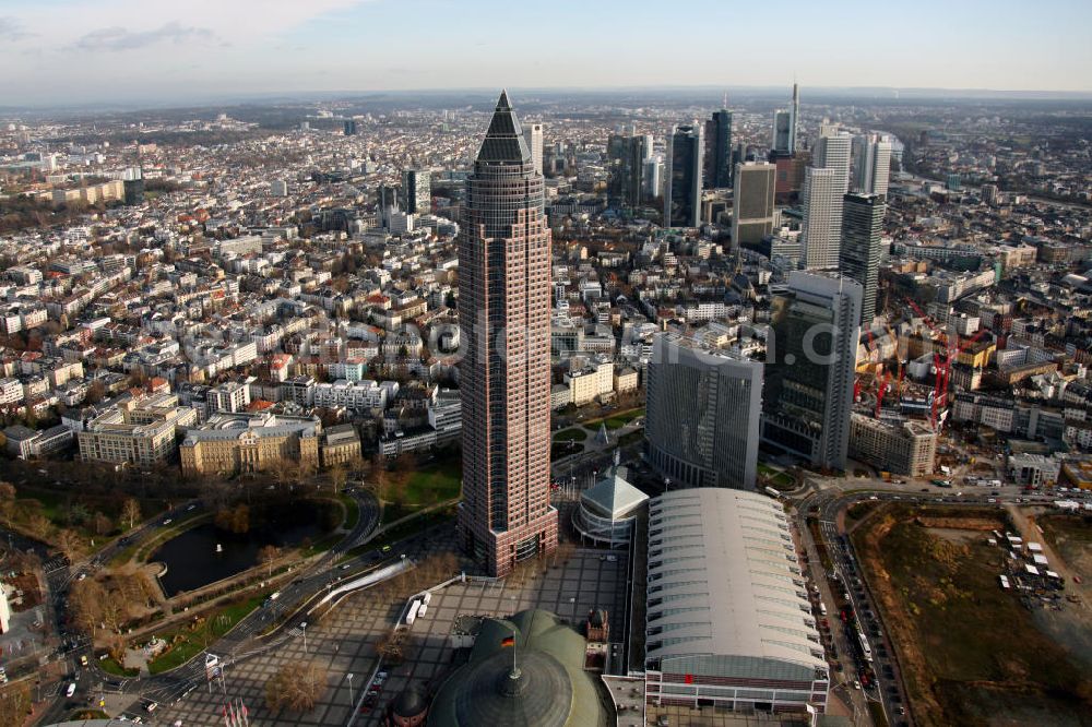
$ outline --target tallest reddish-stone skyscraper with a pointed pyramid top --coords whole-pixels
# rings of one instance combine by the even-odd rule
[[[549,503],[550,231],[545,182],[500,94],[459,229],[463,502],[459,531],[492,575],[557,547]]]

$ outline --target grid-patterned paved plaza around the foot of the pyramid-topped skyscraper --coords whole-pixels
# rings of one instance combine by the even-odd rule
[[[625,553],[610,553],[608,559],[601,550],[578,549],[567,563],[547,569],[545,575],[539,571],[503,582],[455,583],[441,588],[432,595],[426,616],[412,627],[402,664],[384,667],[390,677],[376,707],[358,714],[354,724],[380,725],[383,707],[411,681],[431,693],[451,669],[454,652],[448,635],[459,616],[509,616],[541,608],[579,629],[589,610],[598,607],[609,613],[612,640],[620,641],[626,573]],[[308,624],[306,649],[304,633],[296,630],[295,637],[275,653],[229,668],[223,686],[214,682],[211,690],[201,687],[177,704],[161,705],[156,723],[171,725],[181,719],[183,725],[224,724],[224,702],[229,696],[242,699],[251,725],[346,725],[352,712],[347,675],[353,675],[353,696],[359,701],[360,690],[368,687],[378,664],[377,644],[390,631],[403,605],[390,598],[381,603],[378,593],[354,595],[322,622]],[[273,714],[265,705],[265,682],[281,665],[293,660],[314,660],[325,667],[328,689],[307,714]],[[130,714],[138,712],[136,707],[129,710]]]

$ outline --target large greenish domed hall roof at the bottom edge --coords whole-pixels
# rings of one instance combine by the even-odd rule
[[[487,619],[470,660],[440,688],[429,727],[606,727],[595,679],[584,671],[586,642],[547,611]]]

